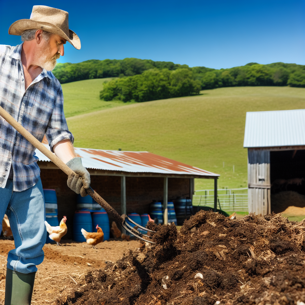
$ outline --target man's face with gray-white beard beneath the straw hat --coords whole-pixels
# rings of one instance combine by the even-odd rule
[[[56,60],[64,54],[65,43],[66,39],[56,34],[52,34],[48,41],[43,38],[37,52],[37,65],[52,71],[56,66]]]

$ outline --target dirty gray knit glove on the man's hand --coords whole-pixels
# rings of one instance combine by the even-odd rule
[[[67,185],[72,191],[81,194],[82,197],[87,196],[86,189],[90,187],[90,174],[81,163],[81,157],[75,157],[66,163],[74,174],[68,177]]]

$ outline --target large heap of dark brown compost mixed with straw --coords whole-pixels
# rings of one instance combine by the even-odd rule
[[[149,223],[156,244],[140,243],[85,276],[58,304],[302,304],[305,221],[281,214],[231,220],[199,211],[180,231]]]

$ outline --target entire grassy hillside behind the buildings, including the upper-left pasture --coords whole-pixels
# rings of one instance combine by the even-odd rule
[[[246,111],[301,109],[305,105],[305,88],[291,87],[218,88],[197,96],[126,105],[98,100],[102,83],[97,81],[102,80],[63,85],[75,146],[147,150],[219,173],[219,186],[228,188],[247,186]],[[126,106],[114,108],[121,105]],[[74,113],[84,114],[71,117]],[[196,189],[212,188],[211,182],[196,179]]]

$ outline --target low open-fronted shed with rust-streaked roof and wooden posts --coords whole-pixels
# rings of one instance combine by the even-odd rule
[[[49,148],[46,138],[42,143]],[[66,174],[40,151],[36,149],[35,152],[39,158],[42,186],[56,190],[58,217],[66,215],[66,237],[72,238],[77,195],[68,188]],[[163,200],[166,208],[167,201],[177,197],[192,199],[194,178],[214,179],[217,190],[218,174],[150,152],[87,148],[75,148],[75,152],[91,175],[91,187],[120,214],[149,213],[152,200]],[[112,221],[111,217],[109,220]]]

